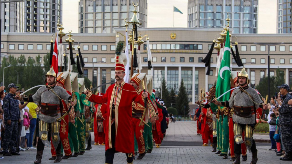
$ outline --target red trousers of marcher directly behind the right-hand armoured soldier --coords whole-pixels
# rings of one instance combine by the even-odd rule
[[[244,132],[242,132],[242,139],[244,140]],[[230,157],[234,156],[234,132],[233,132],[233,121],[232,118],[229,119],[229,149]],[[244,143],[241,144],[241,153],[243,156],[246,155],[246,146]]]

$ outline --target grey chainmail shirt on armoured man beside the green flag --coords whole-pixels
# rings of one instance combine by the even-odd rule
[[[253,97],[253,100],[251,97],[249,97],[245,92],[241,92],[239,88],[235,89],[232,92],[232,95],[229,99],[229,107],[232,108],[233,106],[243,106],[243,107],[251,107],[255,105],[255,109],[258,109],[259,104],[263,103],[263,101],[260,99],[260,96],[258,95],[257,91],[251,87],[248,87],[245,90],[251,97]],[[257,104],[253,103],[256,102]],[[232,119],[236,123],[241,124],[254,124],[256,123],[255,117],[245,118],[237,116],[235,113],[232,115]]]

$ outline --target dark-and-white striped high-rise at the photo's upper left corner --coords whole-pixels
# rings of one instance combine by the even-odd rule
[[[2,32],[56,32],[62,0],[1,3]]]

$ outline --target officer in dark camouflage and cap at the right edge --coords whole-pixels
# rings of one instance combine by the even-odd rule
[[[289,86],[287,84],[282,84],[278,86],[280,89],[281,95],[283,95],[283,102],[281,107],[279,108],[279,123],[281,125],[281,135],[282,141],[285,147],[286,156],[280,158],[280,160],[292,160],[292,96],[289,93]]]

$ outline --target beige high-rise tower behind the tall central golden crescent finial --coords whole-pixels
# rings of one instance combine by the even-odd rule
[[[115,28],[125,27],[125,18],[131,20],[134,3],[140,27],[147,27],[147,0],[80,0],[79,33],[115,33]]]

